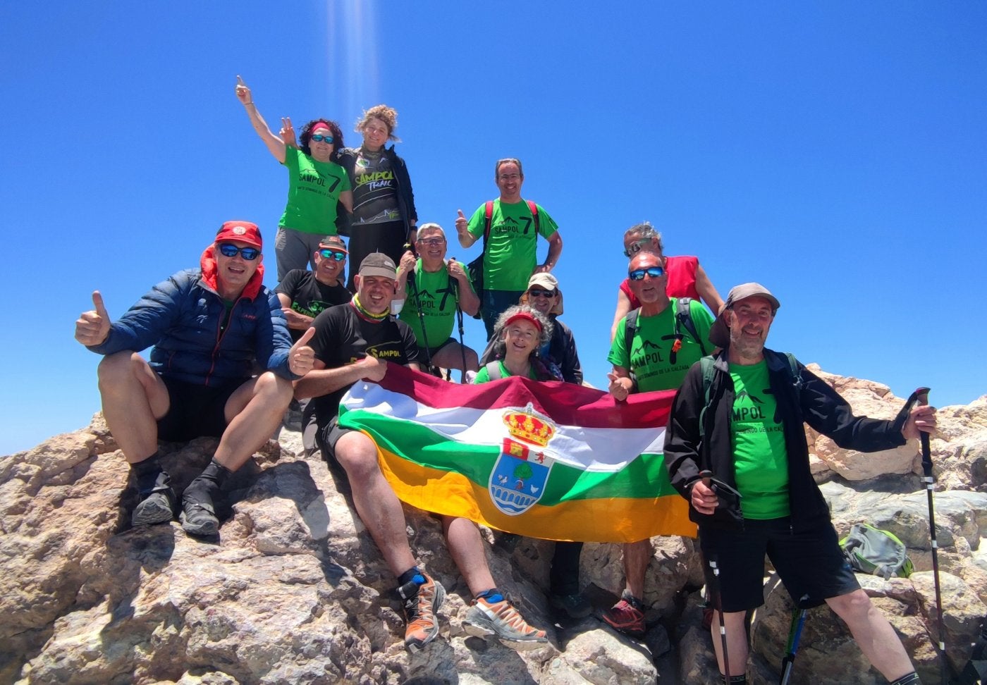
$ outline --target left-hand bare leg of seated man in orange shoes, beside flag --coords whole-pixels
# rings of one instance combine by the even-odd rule
[[[348,432],[336,443],[336,458],[349,479],[356,512],[388,568],[399,576],[416,566],[405,532],[405,511],[380,471],[377,447],[363,433]]]

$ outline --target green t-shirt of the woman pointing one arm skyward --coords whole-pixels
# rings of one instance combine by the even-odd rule
[[[298,148],[284,150],[288,203],[277,223],[302,233],[336,235],[336,203],[350,190],[349,175],[336,162],[319,162]]]

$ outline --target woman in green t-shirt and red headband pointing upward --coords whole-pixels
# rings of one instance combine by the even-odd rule
[[[250,88],[239,76],[236,94],[267,150],[288,170],[288,201],[274,239],[277,279],[283,279],[292,268],[308,268],[312,264],[314,269],[312,260],[319,242],[337,234],[338,203],[346,211],[353,206],[349,175],[338,164],[342,150],[340,124],[326,118],[309,121],[302,127],[301,147],[295,147],[291,119],[282,117],[281,129],[275,135],[258,112]]]

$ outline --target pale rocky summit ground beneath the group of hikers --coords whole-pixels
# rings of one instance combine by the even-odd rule
[[[858,414],[903,404],[871,381],[826,378]],[[987,396],[940,411],[932,440],[936,524],[949,665],[961,670],[987,615]],[[163,444],[177,489],[215,440]],[[889,617],[923,682],[940,682],[939,608],[918,442],[876,454],[842,450],[809,431],[812,468],[837,530],[867,521],[897,535],[915,572],[861,582]],[[596,618],[563,620],[546,597],[551,542],[512,547],[492,531],[498,586],[550,644],[517,652],[468,636],[469,591],[437,519],[408,511],[423,569],[449,590],[439,639],[403,645],[394,578],[347,498],[344,481],[282,430],[227,484],[219,535],[176,522],[131,528],[128,468],[100,415],[82,430],[0,458],[0,682],[3,683],[712,683],[702,627],[702,561],[688,538],[655,538],[647,573],[649,629],[640,641]],[[585,595],[597,612],[623,585],[620,548],[587,544]],[[766,604],[751,624],[750,681],[778,682],[792,604],[765,570]],[[826,607],[809,610],[792,683],[880,683]]]

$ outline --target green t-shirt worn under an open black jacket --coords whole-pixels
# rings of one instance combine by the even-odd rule
[[[744,518],[788,516],[788,451],[768,379],[768,363],[730,364],[730,378],[734,397],[730,440]]]

